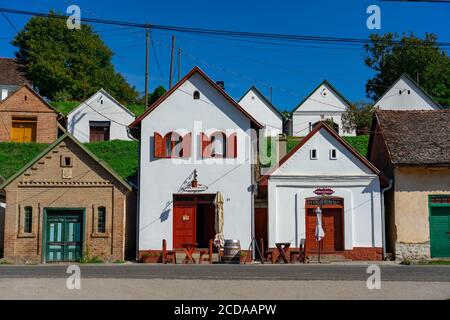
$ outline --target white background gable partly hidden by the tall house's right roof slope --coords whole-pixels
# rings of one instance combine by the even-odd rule
[[[256,87],[251,87],[239,100],[239,104],[264,126],[264,136],[283,133],[283,114]]]

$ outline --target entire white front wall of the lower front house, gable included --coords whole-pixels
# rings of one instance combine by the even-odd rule
[[[318,151],[318,160],[310,159],[311,149]],[[337,150],[337,160],[330,160],[330,149]],[[270,246],[298,244],[305,237],[305,199],[321,187],[344,199],[346,250],[382,246],[378,176],[323,128],[269,179]]]

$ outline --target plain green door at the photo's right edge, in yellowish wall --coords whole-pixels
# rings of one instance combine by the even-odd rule
[[[450,257],[450,206],[430,207],[430,242],[432,258]]]

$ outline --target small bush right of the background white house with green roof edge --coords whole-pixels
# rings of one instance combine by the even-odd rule
[[[345,132],[357,133],[367,132],[372,121],[374,107],[363,101],[358,101],[350,105],[342,114],[342,129]]]

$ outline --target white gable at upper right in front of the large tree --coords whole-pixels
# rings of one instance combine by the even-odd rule
[[[380,110],[439,110],[441,107],[406,73],[375,103]]]

